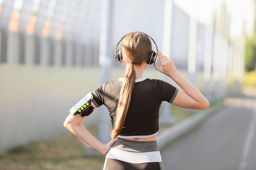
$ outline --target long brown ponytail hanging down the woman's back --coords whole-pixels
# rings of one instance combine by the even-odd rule
[[[136,75],[134,70],[134,64],[128,64],[128,66],[126,67],[126,73],[124,75],[124,82],[120,91],[116,116],[114,118],[114,127],[112,128],[112,131],[110,133],[111,138],[116,138],[124,126],[124,121],[130,106],[135,78]]]

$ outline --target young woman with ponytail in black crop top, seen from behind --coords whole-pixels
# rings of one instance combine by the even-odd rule
[[[118,60],[126,66],[123,78],[106,82],[92,92],[91,105],[105,105],[112,119],[112,140],[103,145],[81,123],[86,117],[70,114],[64,126],[90,148],[106,155],[103,170],[163,170],[157,148],[159,107],[162,101],[189,109],[205,109],[209,102],[157,52],[162,68],[155,69],[175,81],[182,90],[158,79],[147,79],[144,69],[151,64],[152,45],[147,34],[132,32],[123,38]],[[90,114],[90,113],[89,113]],[[88,114],[88,115],[89,115]]]

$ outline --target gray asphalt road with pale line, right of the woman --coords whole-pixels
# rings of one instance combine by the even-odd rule
[[[224,104],[161,150],[164,170],[256,170],[256,91]]]

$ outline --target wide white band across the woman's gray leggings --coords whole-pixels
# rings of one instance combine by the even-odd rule
[[[106,158],[112,158],[128,163],[162,162],[159,151],[153,152],[130,152],[117,148],[110,148]]]

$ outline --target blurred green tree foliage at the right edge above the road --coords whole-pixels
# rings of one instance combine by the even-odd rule
[[[256,38],[246,38],[245,71],[254,71],[256,68]]]

